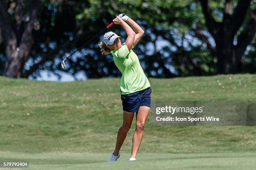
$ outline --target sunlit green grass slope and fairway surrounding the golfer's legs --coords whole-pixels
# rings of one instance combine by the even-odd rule
[[[38,82],[0,77],[0,161],[27,159],[36,170],[255,170],[256,127],[155,126],[151,115],[136,162],[128,162],[134,117],[120,159],[106,163],[123,120],[119,81]],[[153,101],[256,100],[256,75],[149,81]]]

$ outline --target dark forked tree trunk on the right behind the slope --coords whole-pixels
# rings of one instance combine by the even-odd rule
[[[246,26],[239,33],[239,28],[246,19],[246,14],[252,0],[239,0],[234,9],[233,0],[225,0],[223,20],[217,22],[210,8],[208,0],[200,0],[205,15],[206,26],[216,43],[218,56],[217,73],[230,74],[241,72],[241,58],[246,47],[251,43],[256,32],[256,8],[249,12]],[[200,34],[199,30],[196,30]],[[239,33],[239,35],[237,35]],[[234,39],[237,36],[237,44]]]

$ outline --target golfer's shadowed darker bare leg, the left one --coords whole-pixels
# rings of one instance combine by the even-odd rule
[[[118,130],[118,135],[115,144],[114,155],[118,155],[121,146],[126,138],[126,135],[131,128],[134,112],[123,111],[123,125]]]

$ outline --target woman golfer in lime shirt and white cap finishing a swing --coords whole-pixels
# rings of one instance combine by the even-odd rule
[[[141,145],[143,129],[148,117],[151,103],[151,87],[144,74],[137,55],[131,50],[141,39],[144,31],[127,15],[118,15],[113,20],[120,24],[127,33],[127,39],[121,44],[120,37],[114,32],[105,33],[100,48],[102,54],[113,55],[115,65],[122,73],[120,80],[121,100],[123,102],[123,125],[118,130],[115,150],[108,162],[117,161],[128,130],[131,128],[134,112],[136,112],[136,129],[133,134],[133,146],[130,160],[136,160]],[[127,23],[131,26],[129,26]]]

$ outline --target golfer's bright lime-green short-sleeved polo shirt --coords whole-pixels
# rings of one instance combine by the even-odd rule
[[[141,68],[137,55],[133,50],[128,50],[125,42],[121,48],[111,50],[110,53],[113,55],[115,65],[123,74],[120,80],[122,95],[138,92],[150,87],[150,83]]]

